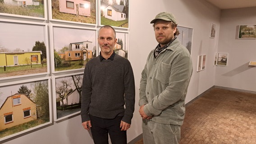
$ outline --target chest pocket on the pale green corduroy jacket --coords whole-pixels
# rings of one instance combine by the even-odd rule
[[[171,74],[171,66],[172,66],[171,64],[161,62],[156,71],[155,79],[157,79],[163,84],[168,84],[169,77]]]

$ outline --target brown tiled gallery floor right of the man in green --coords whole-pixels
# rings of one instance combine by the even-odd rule
[[[186,106],[180,144],[256,144],[256,94],[206,91]]]

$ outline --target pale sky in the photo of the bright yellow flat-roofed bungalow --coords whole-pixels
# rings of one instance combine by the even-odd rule
[[[0,22],[0,49],[32,51],[36,41],[44,41],[44,26]]]

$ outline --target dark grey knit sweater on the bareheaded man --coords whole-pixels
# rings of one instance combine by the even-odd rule
[[[85,67],[82,84],[82,122],[89,114],[101,118],[123,116],[131,124],[135,103],[133,69],[128,59],[114,55],[114,59],[92,58]],[[125,105],[125,108],[124,108]]]

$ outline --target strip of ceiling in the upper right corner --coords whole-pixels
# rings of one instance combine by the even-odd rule
[[[255,7],[256,0],[206,0],[211,4],[214,4],[219,9],[236,9]]]

